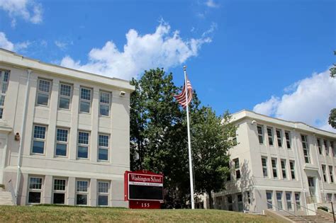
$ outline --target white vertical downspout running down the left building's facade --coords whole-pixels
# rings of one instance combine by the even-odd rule
[[[26,84],[26,95],[25,100],[23,101],[23,112],[22,112],[22,123],[21,123],[21,137],[20,137],[20,145],[18,146],[18,171],[16,173],[16,185],[15,185],[15,196],[16,196],[16,202],[18,199],[18,186],[20,185],[20,179],[21,179],[21,153],[22,153],[22,142],[23,142],[23,131],[25,129],[26,125],[26,112],[27,112],[27,99],[28,99],[28,91],[29,91],[29,81],[30,81],[30,73],[31,69],[27,69],[27,84]],[[16,102],[17,103],[17,102]]]

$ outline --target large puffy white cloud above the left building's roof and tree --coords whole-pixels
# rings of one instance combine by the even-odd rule
[[[92,49],[86,64],[66,56],[62,59],[61,66],[131,79],[139,76],[145,69],[169,69],[182,64],[186,59],[197,56],[204,43],[211,42],[211,38],[206,35],[198,39],[183,40],[179,31],[172,32],[170,26],[164,22],[157,26],[155,33],[139,35],[136,30],[130,29],[126,33],[126,40],[122,51],[111,40],[102,48]]]

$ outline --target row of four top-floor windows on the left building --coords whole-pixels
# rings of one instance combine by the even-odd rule
[[[49,106],[52,81],[38,79],[37,105]],[[60,83],[58,108],[70,110],[72,102],[72,84]],[[79,93],[79,112],[91,113],[92,88],[81,87]],[[99,91],[99,115],[110,116],[111,93]]]

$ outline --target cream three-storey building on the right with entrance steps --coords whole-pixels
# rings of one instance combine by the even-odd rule
[[[226,190],[213,194],[215,208],[309,215],[336,201],[335,133],[248,110],[232,118],[237,145]]]

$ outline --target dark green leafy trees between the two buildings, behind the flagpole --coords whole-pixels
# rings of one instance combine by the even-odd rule
[[[145,71],[131,82],[130,164],[132,170],[147,169],[164,174],[164,207],[187,207],[190,200],[186,112],[174,100],[181,91],[172,73],[163,69]],[[216,116],[201,107],[194,91],[190,105],[191,136],[196,193],[218,191],[228,174],[228,148],[235,133],[229,115]],[[224,118],[225,125],[221,125]]]

